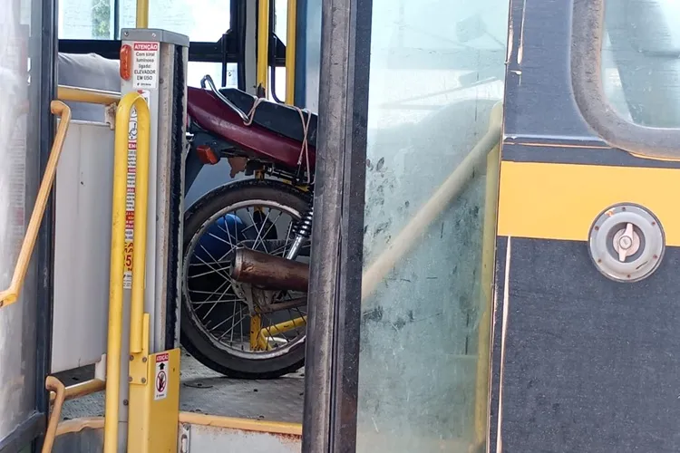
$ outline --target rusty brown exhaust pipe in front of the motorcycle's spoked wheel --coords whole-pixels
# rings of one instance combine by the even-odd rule
[[[234,254],[231,277],[273,291],[307,292],[309,265],[279,256],[239,248]]]

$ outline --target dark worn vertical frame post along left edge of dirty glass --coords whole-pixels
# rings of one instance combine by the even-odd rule
[[[356,449],[373,0],[325,0],[302,452]]]

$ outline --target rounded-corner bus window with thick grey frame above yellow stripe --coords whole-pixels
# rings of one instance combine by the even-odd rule
[[[680,159],[677,9],[673,0],[573,1],[574,100],[590,129],[613,148]]]

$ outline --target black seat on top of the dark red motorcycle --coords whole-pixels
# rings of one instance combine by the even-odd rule
[[[256,96],[242,92],[237,88],[220,88],[219,92],[247,115],[253,108],[253,104],[257,101]],[[316,148],[318,117],[309,111],[303,111],[302,113],[305,120],[307,120],[308,115],[311,115],[307,130],[307,143],[310,147]],[[288,139],[297,141],[305,139],[305,130],[302,126],[299,112],[286,104],[271,101],[260,102],[257,105],[253,122]]]

